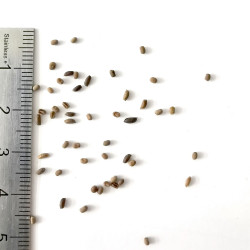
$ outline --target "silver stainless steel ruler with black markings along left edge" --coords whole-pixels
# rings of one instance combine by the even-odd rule
[[[0,29],[0,249],[30,249],[34,29]]]

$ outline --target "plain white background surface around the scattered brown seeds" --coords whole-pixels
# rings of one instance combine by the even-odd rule
[[[1,3],[1,27],[36,28],[35,83],[41,90],[34,93],[34,115],[53,105],[61,110],[33,127],[33,173],[46,168],[33,175],[33,250],[249,249],[248,2]],[[78,43],[70,43],[73,36]],[[51,46],[52,39],[60,45]],[[147,54],[139,53],[141,45]],[[48,70],[50,61],[58,63],[55,71]],[[80,78],[57,84],[66,70],[79,71]],[[212,81],[204,80],[206,73]],[[89,87],[72,92],[88,75]],[[151,76],[159,83],[150,83]],[[126,89],[131,97],[125,102]],[[143,99],[149,105],[140,110]],[[77,113],[76,124],[64,124],[62,101]],[[176,107],[173,116],[170,106]],[[154,114],[158,108],[163,115]],[[125,124],[127,116],[139,121]],[[107,139],[111,145],[104,147]],[[82,147],[62,149],[65,140]],[[193,151],[200,153],[196,161]],[[43,152],[51,157],[38,161]],[[103,160],[103,152],[110,159]],[[122,163],[127,153],[138,163],[133,168]],[[80,164],[82,157],[90,162]],[[59,168],[64,173],[56,177]],[[125,179],[122,188],[90,192],[113,175]],[[193,181],[186,188],[188,176]],[[60,210],[62,197],[67,205]],[[79,212],[83,205],[89,206],[85,214]]]

